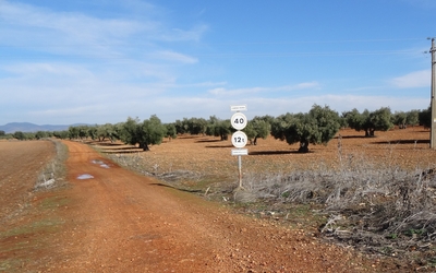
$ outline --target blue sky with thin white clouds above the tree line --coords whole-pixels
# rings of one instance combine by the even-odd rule
[[[434,0],[0,0],[0,124],[426,109]]]

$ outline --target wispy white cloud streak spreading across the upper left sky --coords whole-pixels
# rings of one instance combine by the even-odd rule
[[[0,20],[8,24],[0,28],[0,45],[50,54],[134,58],[141,51],[161,48],[160,41],[198,41],[208,29],[205,24],[190,29],[173,28],[148,19],[153,14],[145,19],[98,19],[5,0],[0,0]],[[195,58],[183,60],[193,62]]]

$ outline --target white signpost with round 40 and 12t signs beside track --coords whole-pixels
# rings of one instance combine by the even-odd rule
[[[231,154],[238,156],[238,169],[239,169],[239,188],[242,188],[242,155],[249,155],[249,150],[243,149],[249,141],[246,134],[240,130],[246,127],[247,120],[244,114],[240,111],[246,110],[246,105],[230,106],[231,111],[237,111],[232,115],[230,122],[235,131],[232,134],[232,144],[237,149],[232,149]]]

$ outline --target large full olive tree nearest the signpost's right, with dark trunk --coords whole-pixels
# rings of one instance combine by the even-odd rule
[[[327,144],[339,131],[340,118],[328,106],[314,105],[307,114],[286,114],[275,119],[271,134],[288,144],[300,143],[300,153],[308,152],[308,144]]]

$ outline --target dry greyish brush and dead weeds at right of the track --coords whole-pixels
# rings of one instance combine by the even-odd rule
[[[403,170],[354,155],[339,161],[337,170],[320,165],[249,176],[235,200],[318,204],[318,213],[328,215],[320,227],[325,237],[371,253],[435,264],[436,169]]]

